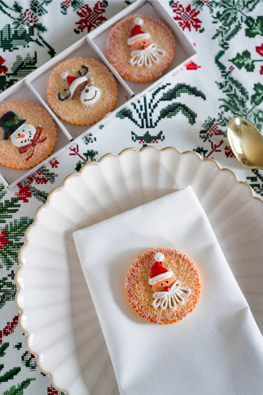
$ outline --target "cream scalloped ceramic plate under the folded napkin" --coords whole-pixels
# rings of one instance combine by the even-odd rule
[[[109,154],[49,194],[19,252],[20,326],[39,369],[58,390],[118,394],[73,232],[188,185],[263,329],[263,201],[232,171],[193,152],[146,147]]]

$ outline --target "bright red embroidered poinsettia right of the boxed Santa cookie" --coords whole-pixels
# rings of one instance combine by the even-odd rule
[[[191,8],[191,4],[188,4],[188,6],[184,8],[183,5],[179,4],[178,1],[173,3],[171,7],[173,8],[173,12],[176,13],[176,16],[173,17],[174,20],[178,22],[178,25],[183,30],[187,28],[189,31],[191,31],[192,27],[197,32],[197,30],[200,29],[202,21],[196,18],[200,12],[199,10]]]

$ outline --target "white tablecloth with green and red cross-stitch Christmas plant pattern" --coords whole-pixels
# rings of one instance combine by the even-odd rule
[[[22,79],[131,1],[0,1],[0,91]],[[198,51],[164,79],[169,105],[155,90],[107,123],[98,122],[33,175],[9,190],[0,184],[0,392],[55,395],[38,370],[18,325],[17,253],[37,208],[64,178],[88,161],[127,147],[177,147],[214,158],[263,197],[263,170],[242,167],[226,136],[234,116],[263,126],[263,1],[162,1]],[[154,110],[154,122],[150,112]]]

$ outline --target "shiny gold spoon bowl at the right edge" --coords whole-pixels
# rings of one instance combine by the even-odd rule
[[[244,166],[263,169],[263,135],[253,123],[240,117],[230,119],[227,138],[235,157]]]

